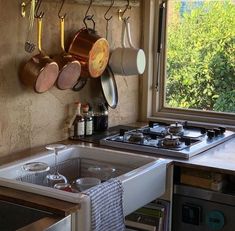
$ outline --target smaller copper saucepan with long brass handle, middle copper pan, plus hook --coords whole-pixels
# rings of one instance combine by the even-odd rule
[[[81,64],[71,54],[64,49],[64,20],[65,15],[61,16],[60,12],[65,0],[62,1],[58,17],[60,19],[60,45],[62,53],[56,55],[53,59],[59,65],[60,71],[57,78],[57,87],[61,90],[71,89],[78,81],[81,74]]]

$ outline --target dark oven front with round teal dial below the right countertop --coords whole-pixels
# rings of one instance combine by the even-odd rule
[[[172,231],[232,231],[235,195],[175,185]]]

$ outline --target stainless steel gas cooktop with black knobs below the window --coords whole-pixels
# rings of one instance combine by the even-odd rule
[[[100,144],[156,155],[189,159],[223,143],[235,133],[224,127],[208,129],[185,123],[149,122],[149,126],[134,130],[120,129],[119,134],[100,140]]]

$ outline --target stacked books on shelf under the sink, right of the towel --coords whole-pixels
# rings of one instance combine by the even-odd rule
[[[170,203],[157,199],[126,216],[129,231],[168,231]]]

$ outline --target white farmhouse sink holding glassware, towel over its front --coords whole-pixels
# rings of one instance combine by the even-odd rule
[[[25,163],[36,161],[45,162],[49,166],[53,166],[54,154],[52,151],[45,151],[33,157],[1,166],[0,185],[64,201],[81,203],[81,211],[78,212],[77,216],[79,227],[82,225],[80,227],[81,230],[89,230],[88,224],[82,224],[84,220],[86,220],[85,223],[89,221],[87,219],[90,214],[88,196],[81,192],[65,192],[38,184],[35,179],[45,177],[45,175],[37,173],[39,174],[37,176],[37,174],[28,174],[22,170],[22,166]],[[116,169],[115,177],[118,177],[123,183],[124,214],[128,215],[164,194],[166,168],[169,160],[110,149],[68,145],[64,150],[59,151],[58,163],[59,172],[63,173],[63,175],[68,173],[70,178],[76,178],[79,174],[80,176],[86,175],[88,166],[114,167]],[[74,172],[76,173],[74,174]],[[30,181],[32,182],[29,183]],[[83,215],[86,219],[84,219]]]

